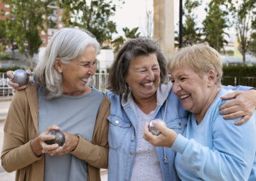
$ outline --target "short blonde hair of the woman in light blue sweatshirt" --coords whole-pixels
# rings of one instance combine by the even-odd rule
[[[221,87],[222,61],[214,48],[200,43],[180,49],[168,63],[168,70],[172,74],[172,70],[180,66],[189,66],[201,77],[212,69],[216,74],[215,85]]]

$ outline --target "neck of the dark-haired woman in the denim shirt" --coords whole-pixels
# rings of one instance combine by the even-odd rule
[[[151,96],[150,98],[134,98],[134,102],[136,103],[136,105],[140,108],[140,110],[145,113],[145,114],[149,114],[150,112],[152,112],[153,110],[156,109],[156,93]]]

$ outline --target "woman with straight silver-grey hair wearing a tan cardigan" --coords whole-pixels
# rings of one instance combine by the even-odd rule
[[[49,42],[35,81],[13,96],[1,161],[16,180],[100,180],[108,167],[109,101],[86,86],[100,45],[87,31],[64,28]],[[65,145],[47,145],[52,129]]]

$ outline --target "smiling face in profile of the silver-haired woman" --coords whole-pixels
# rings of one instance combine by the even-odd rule
[[[56,69],[62,71],[63,94],[77,96],[90,92],[91,89],[86,86],[86,83],[90,76],[95,74],[95,64],[95,50],[90,45],[85,48],[83,54],[72,59],[68,64],[56,62]]]

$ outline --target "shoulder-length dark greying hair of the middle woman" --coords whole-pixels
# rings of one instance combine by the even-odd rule
[[[127,76],[131,61],[138,56],[148,56],[149,54],[156,54],[160,67],[160,84],[166,83],[168,78],[167,62],[159,46],[150,39],[136,38],[127,41],[118,51],[109,70],[108,90],[117,95],[128,92],[129,87],[125,82],[125,76]]]

